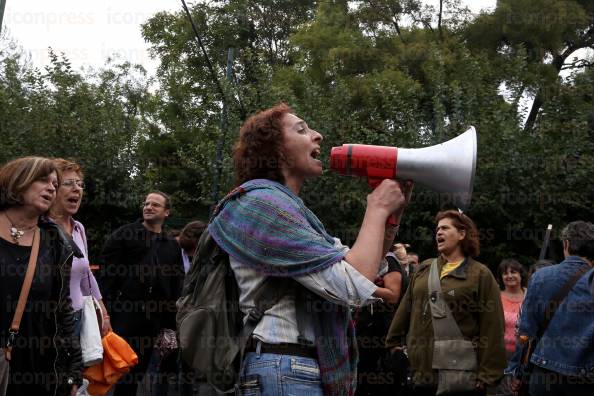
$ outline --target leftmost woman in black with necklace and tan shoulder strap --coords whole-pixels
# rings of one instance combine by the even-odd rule
[[[45,217],[59,185],[59,172],[48,158],[19,158],[0,168],[2,395],[74,396],[82,383],[68,288],[72,257],[80,252]],[[35,245],[35,272],[15,331],[17,301]]]

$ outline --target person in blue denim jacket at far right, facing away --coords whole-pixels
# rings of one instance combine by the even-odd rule
[[[545,307],[581,269],[587,270],[561,302],[530,361],[530,394],[594,395],[594,225],[569,223],[561,232],[565,260],[538,270],[528,285],[518,322],[518,334],[534,339],[544,321]],[[506,370],[514,373],[519,357]],[[518,383],[514,381],[514,387]]]

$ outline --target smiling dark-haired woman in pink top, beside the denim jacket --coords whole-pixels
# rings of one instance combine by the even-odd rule
[[[526,270],[515,259],[505,259],[499,264],[497,280],[502,289],[501,303],[505,317],[505,351],[507,358],[516,350],[516,322],[524,301],[528,276]]]

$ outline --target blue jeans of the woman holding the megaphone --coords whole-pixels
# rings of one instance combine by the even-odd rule
[[[323,396],[317,360],[249,352],[243,361],[238,395]]]

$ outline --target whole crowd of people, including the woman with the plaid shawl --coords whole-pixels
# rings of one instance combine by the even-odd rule
[[[81,167],[42,157],[4,164],[0,394],[81,394],[82,301],[89,295],[101,308],[101,334],[115,332],[138,356],[114,395],[136,395],[147,370],[156,371],[157,395],[180,378],[180,393],[196,394],[204,377],[161,349],[175,331],[184,274],[205,232],[229,255],[246,316],[257,308],[255,290],[283,288],[250,334],[238,394],[515,395],[526,387],[532,395],[593,394],[594,225],[564,228],[560,264],[527,271],[510,258],[494,275],[476,260],[472,219],[445,210],[435,218],[436,255],[421,261],[395,243],[398,226],[387,221],[394,216],[399,224],[412,182],[384,180],[367,196],[349,247],[299,197],[304,182],[322,174],[322,140],[284,104],[253,115],[234,149],[237,188],[210,223],[166,232],[170,197],[150,191],[142,218],[107,238],[98,274],[75,220]],[[271,277],[278,286],[266,282]]]

